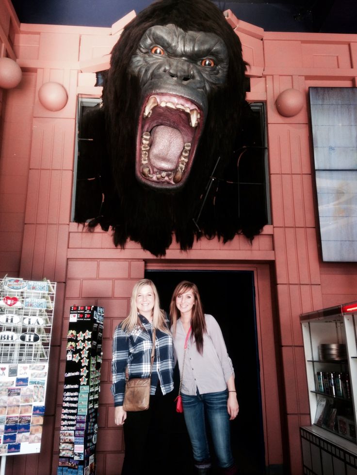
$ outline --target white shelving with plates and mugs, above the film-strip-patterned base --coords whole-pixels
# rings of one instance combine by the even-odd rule
[[[300,319],[311,425],[356,444],[357,302]]]

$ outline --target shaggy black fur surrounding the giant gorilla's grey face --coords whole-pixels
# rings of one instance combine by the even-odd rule
[[[229,57],[226,84],[208,96],[206,123],[190,174],[183,187],[173,191],[143,186],[135,178],[141,88],[130,73],[130,60],[143,34],[152,26],[168,24],[215,33],[224,40]],[[265,211],[250,192],[244,195],[242,187],[237,191],[239,156],[246,147],[262,145],[250,130],[257,123],[245,102],[245,69],[238,36],[210,0],[160,0],[140,12],[112,50],[110,69],[103,74],[102,105],[84,114],[80,124],[81,137],[93,141],[80,149],[78,177],[97,177],[98,199],[104,199],[94,216],[87,210],[93,190],[79,194],[75,220],[93,218],[89,228],[112,228],[116,246],[124,248],[132,240],[155,256],[165,255],[173,236],[185,250],[202,236],[227,242],[237,233],[250,240],[259,234],[267,222]]]

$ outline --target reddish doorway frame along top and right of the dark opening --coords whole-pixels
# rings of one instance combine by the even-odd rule
[[[264,434],[265,466],[283,465],[282,424],[278,379],[278,354],[272,300],[272,276],[269,264],[243,264],[241,262],[208,262],[201,260],[149,260],[145,270],[184,271],[251,271],[255,287],[255,311],[260,371],[260,394]]]

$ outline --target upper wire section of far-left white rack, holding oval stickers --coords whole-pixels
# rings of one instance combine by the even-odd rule
[[[0,279],[0,364],[49,360],[56,283]]]

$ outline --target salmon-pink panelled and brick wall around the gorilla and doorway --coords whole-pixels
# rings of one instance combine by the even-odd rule
[[[100,96],[95,72],[108,66],[130,15],[109,29],[20,25],[11,3],[0,0],[0,56],[16,58],[23,71],[15,89],[0,90],[0,276],[58,282],[41,453],[8,457],[7,474],[56,473],[68,309],[81,303],[105,308],[97,473],[117,474],[123,441],[109,391],[112,333],[127,315],[132,285],[145,269],[180,267],[254,272],[266,463],[282,463],[282,440],[288,440],[291,474],[302,473],[299,426],[309,424],[309,414],[299,315],[356,300],[357,265],[321,262],[307,102],[287,118],[275,101],[292,87],[306,100],[309,86],[355,87],[357,35],[265,32],[228,14],[250,64],[247,99],[266,103],[272,225],[253,245],[236,236],[225,245],[202,240],[182,253],[174,244],[157,259],[135,243],[116,249],[110,233],[89,233],[70,222],[77,96]],[[38,101],[47,81],[60,82],[68,93],[58,112]],[[279,380],[284,410],[277,402]]]

